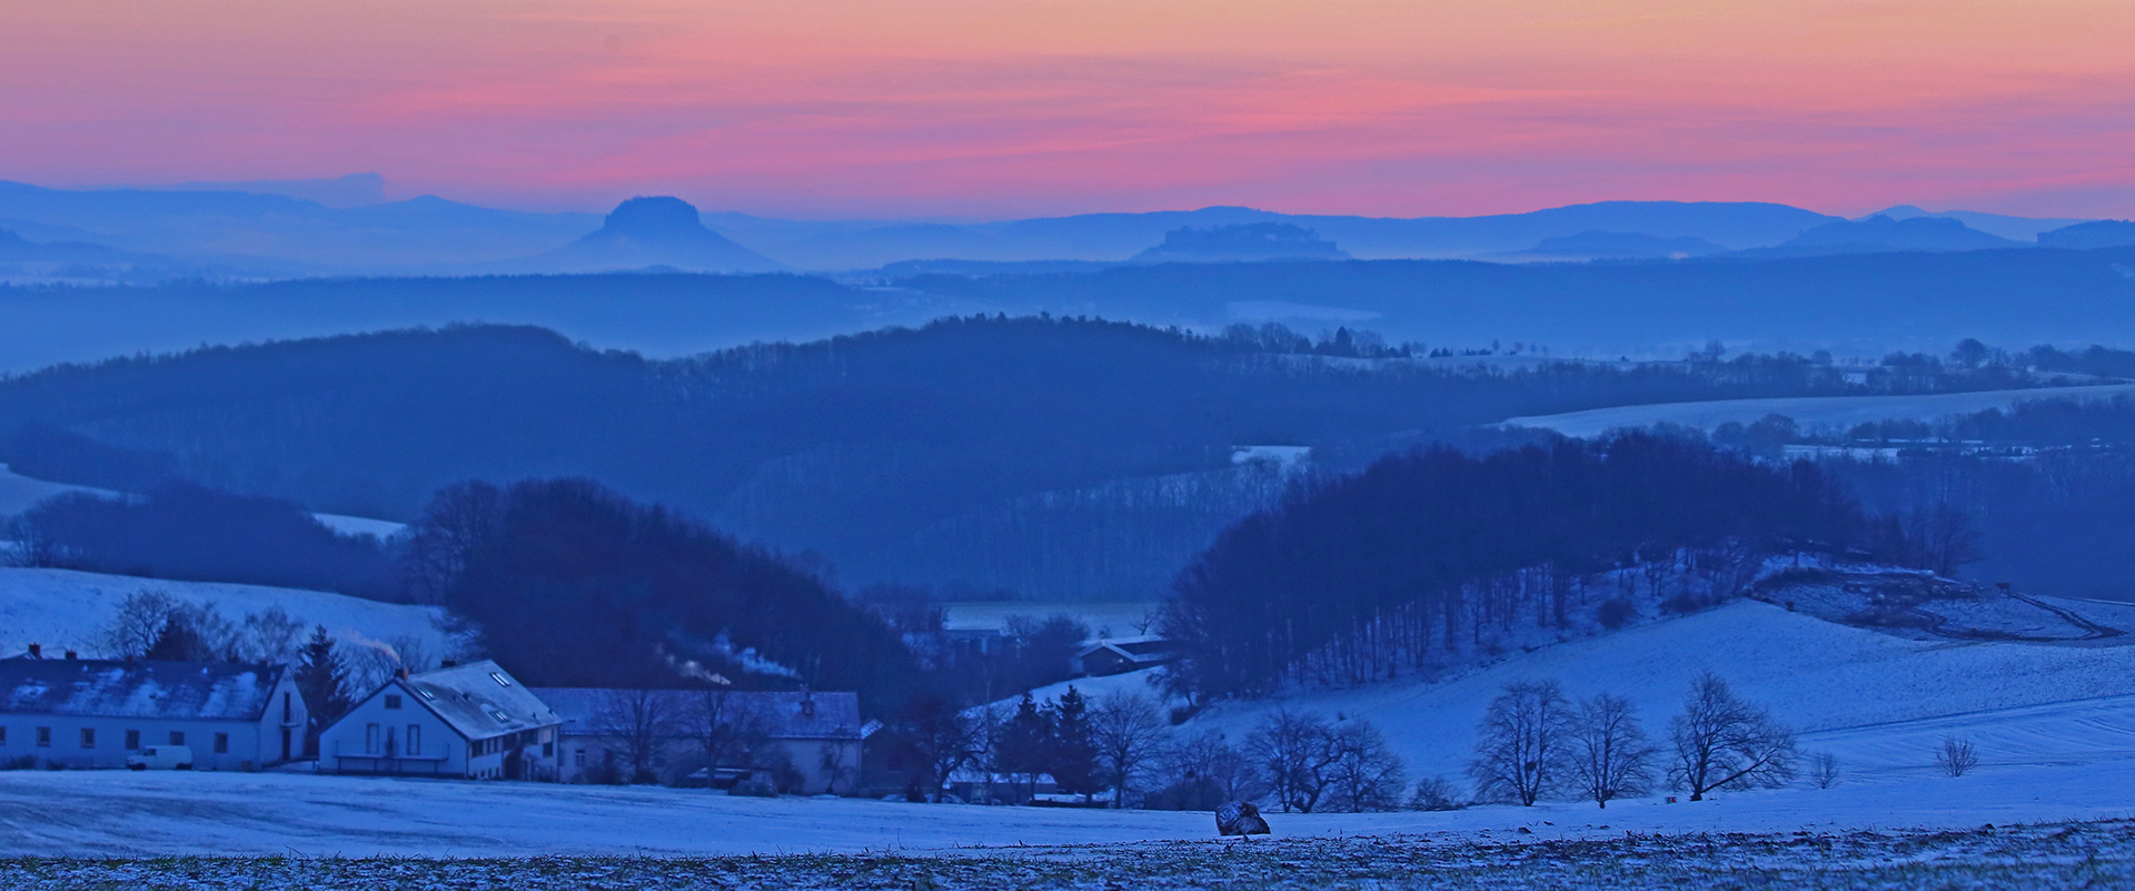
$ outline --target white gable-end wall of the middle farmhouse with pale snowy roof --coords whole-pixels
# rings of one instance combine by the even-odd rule
[[[468,739],[421,699],[391,682],[352,705],[318,735],[318,771],[476,776]]]

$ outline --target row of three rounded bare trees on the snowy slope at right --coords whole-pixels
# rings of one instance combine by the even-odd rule
[[[1650,791],[1663,759],[1670,788],[1691,801],[1714,788],[1781,786],[1793,780],[1793,731],[1710,671],[1691,682],[1665,748],[1648,741],[1625,697],[1571,701],[1556,682],[1518,682],[1484,712],[1469,776],[1484,801],[1533,806],[1571,793],[1608,808]],[[1836,763],[1823,769],[1836,778]]]

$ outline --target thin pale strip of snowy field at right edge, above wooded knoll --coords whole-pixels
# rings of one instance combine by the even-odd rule
[[[1565,436],[1599,436],[1618,427],[1650,427],[1663,421],[1685,427],[1712,429],[1727,421],[1753,423],[1766,415],[1785,415],[1806,429],[1817,429],[1853,427],[1866,421],[1939,421],[1949,415],[2009,408],[2026,400],[2105,400],[2131,393],[2135,393],[2135,385],[1998,389],[1986,393],[1932,395],[1819,395],[1781,400],[1667,402],[1657,406],[1616,406],[1565,415],[1516,417],[1507,419],[1505,425],[1554,429]]]

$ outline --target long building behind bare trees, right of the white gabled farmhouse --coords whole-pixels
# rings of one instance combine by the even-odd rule
[[[860,720],[856,692],[715,692],[705,690],[604,690],[540,688],[564,718],[559,778],[596,782],[628,773],[630,737],[651,731],[651,771],[660,782],[681,784],[696,771],[705,782],[717,773],[769,771],[790,793],[854,795],[860,786],[860,748],[875,722]],[[643,697],[658,697],[658,720],[643,714]],[[707,699],[711,697],[711,699]],[[705,746],[690,724],[702,722],[707,703],[717,703],[734,726],[760,737],[752,763],[707,765]]]

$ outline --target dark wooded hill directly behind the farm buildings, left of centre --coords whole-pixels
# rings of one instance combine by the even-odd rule
[[[918,667],[822,579],[589,481],[446,487],[412,530],[410,575],[540,686],[734,684],[858,690],[897,709]]]

